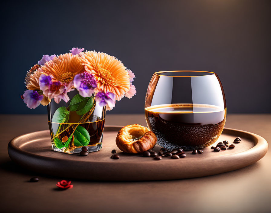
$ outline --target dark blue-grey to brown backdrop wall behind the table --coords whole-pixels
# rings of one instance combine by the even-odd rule
[[[227,112],[271,113],[271,1],[8,1],[1,5],[1,113],[47,113],[20,98],[44,54],[72,47],[116,56],[136,74],[136,96],[109,113],[143,113],[155,71],[214,71]]]

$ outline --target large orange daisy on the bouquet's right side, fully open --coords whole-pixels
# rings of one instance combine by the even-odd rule
[[[116,95],[116,100],[124,97],[130,89],[129,75],[126,67],[116,57],[96,51],[80,53],[80,61],[85,70],[94,74],[99,91]]]

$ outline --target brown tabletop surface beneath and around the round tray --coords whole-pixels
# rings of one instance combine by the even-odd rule
[[[109,114],[106,125],[146,125],[143,114]],[[0,115],[0,212],[270,212],[271,154],[243,169],[194,179],[146,182],[72,180],[26,171],[8,156],[15,136],[48,128],[47,115]],[[271,141],[271,114],[229,114],[226,127]],[[221,165],[223,166],[223,165]],[[87,172],[87,171],[86,171]],[[162,172],[162,171],[161,171]],[[30,183],[37,176],[39,182]]]

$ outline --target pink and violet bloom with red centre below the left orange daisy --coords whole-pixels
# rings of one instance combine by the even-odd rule
[[[52,81],[51,76],[47,76],[45,74],[41,74],[39,77],[39,85],[43,94],[48,99],[53,99],[56,103],[59,103],[62,99],[65,102],[68,102],[70,98],[67,93],[72,90],[73,82],[66,84],[61,84],[60,81]]]

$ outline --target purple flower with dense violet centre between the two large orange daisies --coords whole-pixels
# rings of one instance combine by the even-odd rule
[[[89,72],[77,74],[73,79],[73,85],[78,90],[80,96],[90,97],[97,87],[97,81],[94,75]]]

